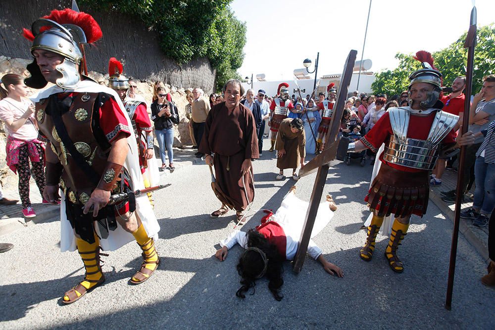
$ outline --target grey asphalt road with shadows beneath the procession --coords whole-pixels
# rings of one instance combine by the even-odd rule
[[[294,184],[275,180],[273,156],[265,151],[254,162],[253,210],[276,209]],[[156,246],[163,259],[141,285],[128,284],[141,264],[138,245],[130,243],[103,257],[103,286],[62,306],[60,297],[84,270],[76,252],[60,253],[59,222],[1,236],[15,247],[0,254],[0,329],[494,329],[495,290],[481,284],[485,263],[462,235],[452,311],[444,308],[452,224],[433,203],[425,217],[413,219],[399,249],[404,273],[389,268],[384,236],[378,236],[371,262],[358,257],[371,170],[354,161],[333,162],[329,171],[324,193],[333,194],[339,209],[314,240],[344,269],[342,279],[306,257],[298,275],[285,265],[282,301],[272,297],[265,279],[253,295],[237,298],[242,248],[234,247],[224,262],[213,257],[218,242],[233,230],[235,213],[210,219],[219,203],[208,168],[185,165],[163,175],[162,182],[172,186],[154,194],[161,226]],[[314,177],[297,182],[299,198],[309,200]],[[261,216],[254,214],[242,230],[255,227]]]

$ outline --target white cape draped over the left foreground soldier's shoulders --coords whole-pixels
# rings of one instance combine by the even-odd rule
[[[114,90],[99,85],[92,80],[84,80],[78,83],[74,90],[65,90],[58,86],[52,86],[45,91],[41,91],[38,94],[35,94],[31,97],[33,102],[38,102],[41,98],[47,98],[51,94],[55,93],[66,93],[66,92],[77,92],[77,93],[106,93],[112,95],[113,99],[117,102],[122,110],[122,113],[127,119],[127,125],[132,128],[131,120],[127,115],[127,111],[125,111],[124,105],[120,100],[117,93]],[[138,159],[138,147],[136,143],[136,139],[134,134],[131,134],[129,138],[127,138],[127,144],[129,145],[129,152],[127,153],[127,157],[124,162],[124,168],[129,172],[129,175],[132,179],[133,187],[132,189],[144,189],[144,181],[143,176],[141,175],[141,170],[139,167],[139,159]],[[159,177],[159,176],[158,176]],[[153,185],[153,183],[151,183]],[[74,231],[67,220],[65,214],[65,203],[64,197],[62,195],[62,203],[60,204],[60,250],[62,252],[65,251],[74,251],[76,250],[76,238],[74,236]],[[152,237],[155,240],[158,239],[158,232],[160,231],[160,226],[158,225],[158,221],[154,215],[151,204],[149,203],[148,196],[143,194],[139,197],[136,197],[136,213],[143,222],[143,226],[148,234],[148,237]],[[98,226],[96,226],[98,227]],[[97,229],[98,231],[98,229]],[[120,225],[117,226],[115,231],[109,231],[109,235],[105,239],[100,239],[100,246],[103,250],[113,251],[121,246],[134,241],[134,236],[131,233],[124,231]]]

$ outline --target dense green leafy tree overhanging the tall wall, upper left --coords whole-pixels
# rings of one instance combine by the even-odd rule
[[[229,8],[232,0],[80,0],[106,12],[139,17],[155,31],[165,56],[179,64],[207,57],[216,69],[216,89],[244,60],[246,25]]]

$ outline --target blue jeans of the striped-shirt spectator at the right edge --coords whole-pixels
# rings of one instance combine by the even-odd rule
[[[484,157],[476,158],[474,176],[476,190],[473,208],[477,212],[489,215],[495,205],[495,164],[485,163]]]

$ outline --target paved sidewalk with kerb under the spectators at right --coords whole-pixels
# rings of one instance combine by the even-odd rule
[[[442,177],[442,186],[430,187],[430,199],[444,212],[447,218],[452,222],[454,219],[454,203],[448,203],[442,200],[441,191],[456,189],[457,187],[457,171],[446,170]],[[474,185],[469,191],[474,194]],[[465,210],[473,205],[473,199],[464,197],[465,203],[462,203],[462,210]],[[466,239],[474,246],[481,256],[488,262],[488,226],[476,227],[473,226],[471,220],[460,219],[459,231]]]

